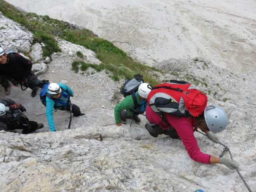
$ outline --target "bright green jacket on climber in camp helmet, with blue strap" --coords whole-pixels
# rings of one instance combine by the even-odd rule
[[[127,110],[128,114],[130,116],[134,116],[134,114],[140,114],[141,112],[144,112],[146,110],[146,106],[148,105],[146,100],[140,100],[140,95],[138,94],[138,91],[135,93],[137,102],[138,102],[138,108],[134,109],[134,101],[132,99],[132,95],[126,96],[122,102],[118,103],[114,108],[114,116],[116,124],[121,122],[121,111]]]

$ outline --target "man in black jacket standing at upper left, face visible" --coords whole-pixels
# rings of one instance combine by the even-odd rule
[[[38,87],[42,88],[44,80],[39,80],[32,72],[32,63],[19,54],[6,54],[0,47],[0,76],[7,78],[14,86],[32,89],[31,96],[35,97]]]

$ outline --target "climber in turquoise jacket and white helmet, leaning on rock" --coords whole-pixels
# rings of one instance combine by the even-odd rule
[[[53,110],[56,108],[58,110],[70,111],[70,97],[73,97],[74,94],[70,87],[63,83],[50,83],[46,93],[46,118],[50,131],[56,131]],[[85,115],[81,113],[80,108],[75,104],[72,104],[72,113],[75,117]]]

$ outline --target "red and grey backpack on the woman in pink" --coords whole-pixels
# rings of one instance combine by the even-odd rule
[[[169,80],[155,86],[148,95],[148,105],[155,112],[175,116],[200,116],[207,106],[206,94],[186,81]]]

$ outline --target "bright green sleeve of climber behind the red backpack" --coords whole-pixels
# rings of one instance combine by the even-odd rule
[[[126,98],[124,98],[122,102],[118,103],[114,108],[116,124],[121,122],[121,111],[128,110],[131,108],[134,108],[134,102],[132,100],[132,95],[128,95],[126,96]]]

